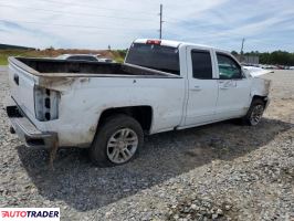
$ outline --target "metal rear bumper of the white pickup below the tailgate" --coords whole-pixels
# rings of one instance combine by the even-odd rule
[[[19,138],[28,147],[51,148],[57,141],[57,134],[51,131],[40,131],[25,116],[23,116],[17,106],[8,106],[7,114],[11,125]]]

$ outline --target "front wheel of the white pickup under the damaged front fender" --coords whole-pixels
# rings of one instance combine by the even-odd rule
[[[251,106],[246,113],[246,115],[243,117],[243,124],[248,125],[248,126],[255,126],[260,123],[261,118],[262,118],[262,114],[264,112],[264,102],[260,98],[255,98],[252,101]],[[259,110],[258,110],[259,109]],[[256,120],[253,120],[254,118],[254,113],[253,112],[260,112],[260,116],[256,116]]]

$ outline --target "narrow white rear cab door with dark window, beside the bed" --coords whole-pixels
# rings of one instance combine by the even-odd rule
[[[188,103],[185,126],[213,122],[218,98],[218,80],[212,51],[187,48]]]

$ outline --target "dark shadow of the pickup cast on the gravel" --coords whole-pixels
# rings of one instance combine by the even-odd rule
[[[266,145],[291,127],[290,123],[264,118],[256,127],[224,122],[162,133],[146,138],[137,159],[113,168],[94,167],[87,151],[77,148],[61,149],[54,171],[49,169],[46,151],[19,146],[18,152],[42,197],[62,200],[78,211],[88,211],[212,160],[233,160]]]

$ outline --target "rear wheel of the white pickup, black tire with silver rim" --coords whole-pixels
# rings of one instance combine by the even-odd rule
[[[136,156],[143,141],[139,123],[127,115],[116,115],[97,129],[90,157],[101,167],[123,165]]]

